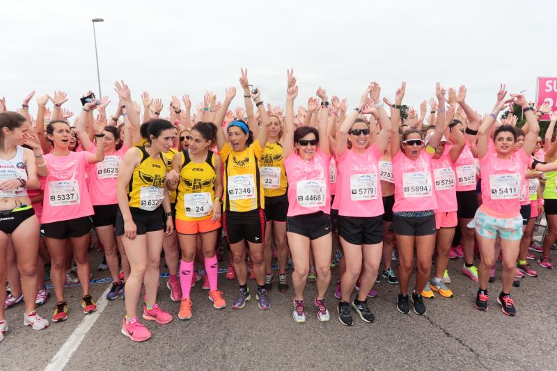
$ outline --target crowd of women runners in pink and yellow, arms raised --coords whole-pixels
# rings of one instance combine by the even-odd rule
[[[48,276],[52,322],[68,317],[67,283],[79,282],[83,313],[97,309],[89,293],[93,242],[113,280],[107,299],[125,299],[121,332],[134,341],[151,337],[140,317],[167,324],[201,315],[190,293],[202,279],[216,309],[228,301],[240,310],[253,293],[258,308],[269,309],[274,259],[278,291],[288,295],[292,285],[295,322],[306,321],[306,283],[315,281],[317,319],[331,319],[325,298],[334,287],[336,316],[347,326],[353,315],[374,321],[367,298],[381,279],[399,285],[404,314],[425,315],[424,298],[466,294],[448,286],[449,259],[464,260],[462,273],[478,283],[470,305],[483,311],[500,260],[495,297],[510,316],[517,278],[538,276],[528,260],[551,269],[557,114],[549,106],[501,85],[492,111],[480,114],[466,103],[465,86],[446,91],[437,83],[416,110],[404,104],[405,82],[391,102],[373,81],[350,106],[318,88],[295,108],[292,70],[285,106],[264,102],[247,70],[240,88],[242,107],[230,107],[237,94],[230,87],[222,102],[207,92],[194,107],[188,95],[173,96],[168,117],[162,100],[132,96],[123,81],[111,115],[108,98],[91,92],[74,120],[62,91],[37,97],[36,117],[34,92],[17,107],[0,100],[0,340],[5,310],[19,303],[24,325],[49,326],[36,312],[50,295]],[[526,120],[520,128],[514,106]],[[547,113],[542,139],[538,121]],[[532,237],[542,213],[549,232],[538,246]],[[221,255],[236,292],[219,290]],[[163,256],[179,309],[157,303],[166,294],[158,292]],[[340,278],[330,285],[337,265]]]

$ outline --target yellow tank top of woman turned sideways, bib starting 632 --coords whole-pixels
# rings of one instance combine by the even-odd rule
[[[162,204],[164,198],[166,162],[162,153],[159,153],[158,159],[153,159],[144,146],[136,148],[141,150],[141,161],[134,168],[127,187],[127,198],[130,200],[130,207],[152,211]]]

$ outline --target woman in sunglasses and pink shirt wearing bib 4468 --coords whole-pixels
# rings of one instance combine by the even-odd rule
[[[331,281],[331,193],[329,190],[329,138],[327,117],[329,110],[322,107],[317,113],[318,129],[294,127],[294,100],[298,86],[288,89],[284,127],[283,159],[288,178],[288,214],[286,236],[292,253],[294,272],[295,322],[306,322],[304,288],[309,273],[309,254],[317,271],[317,318],[330,319],[325,306],[325,294]]]

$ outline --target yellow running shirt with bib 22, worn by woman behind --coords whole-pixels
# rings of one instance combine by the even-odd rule
[[[283,146],[280,143],[265,144],[259,171],[265,197],[282,196],[286,193],[288,180],[283,162]]]

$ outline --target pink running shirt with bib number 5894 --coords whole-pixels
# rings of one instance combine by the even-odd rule
[[[414,161],[400,150],[391,159],[395,180],[393,212],[437,210],[431,176],[432,157],[432,154],[422,150]]]

